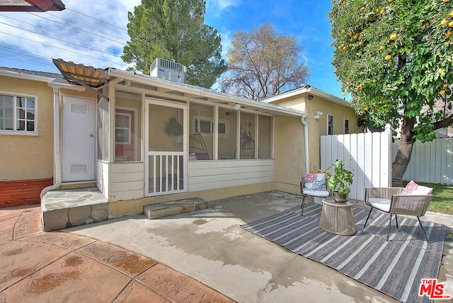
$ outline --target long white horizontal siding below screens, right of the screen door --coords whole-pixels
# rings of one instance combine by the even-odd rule
[[[274,160],[189,161],[189,191],[275,181]]]

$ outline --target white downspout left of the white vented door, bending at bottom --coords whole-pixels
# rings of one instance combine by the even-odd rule
[[[55,190],[59,188],[59,185],[62,184],[62,161],[61,161],[61,152],[60,152],[60,134],[59,134],[59,90],[54,88],[54,165],[55,165],[55,180],[54,184],[47,186],[41,190],[40,198],[50,190]]]

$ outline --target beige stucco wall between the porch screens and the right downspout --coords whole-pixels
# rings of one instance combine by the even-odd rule
[[[300,118],[275,117],[276,189],[297,193],[305,169],[304,125]]]

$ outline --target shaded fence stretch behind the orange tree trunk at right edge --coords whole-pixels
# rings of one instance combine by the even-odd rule
[[[392,144],[392,161],[398,145],[398,141]],[[426,143],[416,141],[403,180],[452,185],[453,138],[439,138]]]

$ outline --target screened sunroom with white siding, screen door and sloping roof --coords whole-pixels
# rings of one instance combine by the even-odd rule
[[[95,139],[94,181],[109,216],[172,199],[297,191],[304,170],[299,110],[171,81],[184,77],[184,67],[165,60],[163,76],[54,62],[67,81],[98,96],[95,134],[87,136]]]

